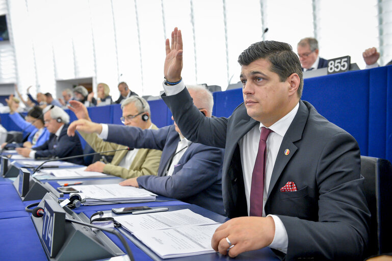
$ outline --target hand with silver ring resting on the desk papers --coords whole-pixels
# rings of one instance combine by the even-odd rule
[[[275,222],[272,217],[233,218],[215,230],[211,246],[223,255],[236,257],[242,252],[269,246],[274,236]]]

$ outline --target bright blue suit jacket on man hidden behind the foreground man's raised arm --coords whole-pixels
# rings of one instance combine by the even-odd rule
[[[162,150],[158,176],[138,177],[140,187],[224,215],[221,172],[224,150],[192,143],[181,156],[173,174],[165,176],[179,140],[174,125],[143,130],[114,124],[109,124],[107,139],[128,147]]]

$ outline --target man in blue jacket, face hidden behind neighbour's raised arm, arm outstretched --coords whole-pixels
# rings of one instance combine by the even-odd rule
[[[212,94],[197,88],[191,95],[200,115],[211,117],[214,102]],[[97,133],[102,139],[129,147],[162,150],[158,176],[131,178],[121,185],[141,187],[166,197],[197,204],[221,215],[225,214],[221,184],[223,149],[188,141],[181,135],[175,123],[158,130],[143,130],[131,126],[77,120],[69,126],[68,134],[74,135],[75,130]]]

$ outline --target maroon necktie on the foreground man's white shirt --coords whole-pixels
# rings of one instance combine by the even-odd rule
[[[264,195],[264,171],[266,170],[266,147],[268,135],[271,129],[262,127],[260,141],[254,168],[252,172],[252,185],[250,187],[250,211],[249,216],[263,216],[263,195]]]

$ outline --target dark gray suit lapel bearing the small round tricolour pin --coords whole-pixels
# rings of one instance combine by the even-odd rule
[[[276,157],[275,166],[272,171],[270,186],[268,189],[268,197],[270,196],[271,191],[274,189],[276,182],[278,181],[284,168],[289,163],[289,161],[293,158],[295,152],[298,149],[297,146],[294,144],[294,142],[302,139],[302,133],[306,125],[308,115],[309,115],[308,109],[306,108],[302,100],[300,100],[298,112],[294,117],[293,122],[290,124],[289,129],[287,130],[286,134],[283,137],[282,144],[280,145],[278,155]],[[286,149],[290,150],[290,153],[288,155],[284,154],[284,151]]]

